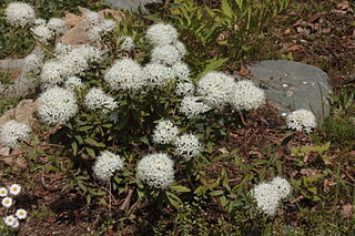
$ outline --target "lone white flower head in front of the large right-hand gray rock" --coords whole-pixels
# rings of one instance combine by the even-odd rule
[[[306,132],[311,132],[313,129],[317,126],[315,116],[312,112],[301,109],[292,112],[286,116],[287,127]]]

